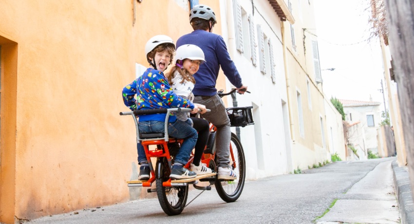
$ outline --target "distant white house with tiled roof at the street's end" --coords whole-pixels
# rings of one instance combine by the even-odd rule
[[[383,150],[382,134],[379,123],[380,104],[379,102],[339,100],[343,105],[346,114],[345,121],[348,123],[346,131],[346,143],[352,146],[357,153],[351,153],[350,160],[367,159],[368,150],[377,153]],[[352,158],[354,156],[354,158]]]

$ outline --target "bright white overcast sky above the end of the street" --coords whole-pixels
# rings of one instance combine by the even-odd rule
[[[373,101],[383,102],[378,91],[384,77],[379,40],[366,41],[369,12],[363,2],[367,0],[314,2],[325,95],[360,101],[369,101],[371,95]],[[324,70],[328,68],[335,70]]]

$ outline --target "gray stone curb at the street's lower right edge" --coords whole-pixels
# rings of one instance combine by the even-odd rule
[[[398,167],[396,160],[392,163],[394,171],[395,196],[398,201],[398,210],[401,224],[414,224],[414,203],[410,179],[406,167]]]

